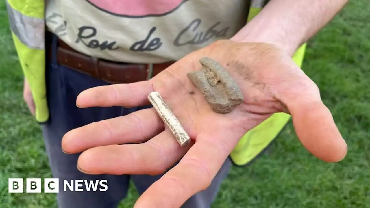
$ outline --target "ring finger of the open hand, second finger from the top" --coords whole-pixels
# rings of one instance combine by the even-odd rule
[[[98,146],[144,142],[163,130],[161,118],[154,108],[148,108],[68,131],[62,138],[62,148],[77,153]]]

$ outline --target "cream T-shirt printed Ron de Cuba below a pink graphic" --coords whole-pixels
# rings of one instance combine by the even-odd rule
[[[46,24],[81,53],[112,61],[178,60],[246,23],[248,0],[49,0]]]

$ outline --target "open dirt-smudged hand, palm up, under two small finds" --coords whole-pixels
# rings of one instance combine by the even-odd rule
[[[201,68],[199,59],[216,60],[234,78],[244,102],[231,113],[211,110],[186,76]],[[264,43],[217,41],[177,61],[149,81],[95,87],[77,98],[81,108],[133,107],[149,104],[158,91],[192,142],[181,148],[153,108],[99,121],[65,134],[65,152],[84,151],[78,167],[88,174],[150,174],[165,172],[141,195],[135,207],[180,207],[212,178],[250,129],[276,112],[292,115],[299,140],[327,162],[344,158],[347,146],[317,86],[290,56]],[[127,144],[139,143],[141,144]]]

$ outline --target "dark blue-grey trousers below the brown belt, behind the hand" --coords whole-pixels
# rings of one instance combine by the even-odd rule
[[[59,66],[56,62],[56,38],[53,41],[53,60],[47,64],[47,98],[50,120],[42,124],[46,152],[54,178],[59,178],[58,204],[61,208],[113,208],[125,198],[132,180],[139,194],[142,194],[161,175],[87,175],[77,170],[79,154],[65,154],[61,151],[61,138],[74,128],[127,115],[139,108],[86,108],[75,106],[77,95],[81,91],[106,85],[83,73]],[[151,106],[147,106],[151,107]],[[208,208],[215,199],[223,178],[228,174],[231,161],[227,159],[213,179],[209,188],[198,192],[183,205],[184,208]],[[107,191],[64,191],[63,180],[107,180]],[[166,187],[164,187],[166,188]],[[69,189],[68,189],[69,190]]]

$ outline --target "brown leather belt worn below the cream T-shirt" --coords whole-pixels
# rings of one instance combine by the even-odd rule
[[[49,60],[51,60],[52,37],[52,33],[46,33],[47,57]],[[135,64],[103,60],[75,51],[60,39],[58,39],[57,62],[61,66],[66,66],[108,83],[134,83],[148,80],[174,63],[174,61],[171,61],[161,64]]]

